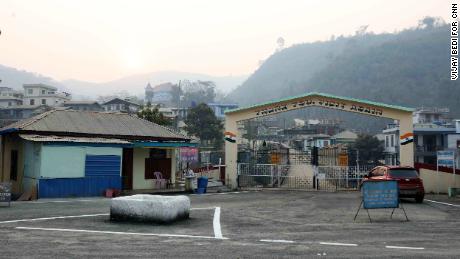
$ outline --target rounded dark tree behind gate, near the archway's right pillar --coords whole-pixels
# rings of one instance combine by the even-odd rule
[[[364,163],[378,163],[383,158],[383,143],[377,137],[360,134],[352,149],[358,150],[359,160]]]

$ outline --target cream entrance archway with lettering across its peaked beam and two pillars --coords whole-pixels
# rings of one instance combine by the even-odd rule
[[[305,95],[288,97],[249,107],[229,110],[225,112],[225,131],[226,134],[230,136],[235,135],[236,138],[238,138],[240,137],[237,128],[237,123],[239,121],[270,116],[307,107],[322,107],[398,120],[401,136],[411,136],[413,134],[412,112],[414,109],[412,108],[323,93],[308,93]],[[231,188],[237,187],[237,153],[237,142],[233,143],[226,141],[226,183]],[[400,162],[401,165],[414,165],[414,146],[412,142],[406,145],[401,145]]]

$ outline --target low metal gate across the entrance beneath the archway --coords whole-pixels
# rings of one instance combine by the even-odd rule
[[[358,190],[373,166],[318,166],[290,164],[238,164],[241,188],[286,188],[304,190]]]

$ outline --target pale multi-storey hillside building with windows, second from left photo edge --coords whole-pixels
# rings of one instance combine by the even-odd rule
[[[24,105],[38,106],[48,105],[51,107],[62,106],[70,101],[72,96],[66,92],[58,92],[57,88],[45,84],[24,84]]]

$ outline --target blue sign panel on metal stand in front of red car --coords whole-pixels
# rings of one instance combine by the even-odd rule
[[[399,186],[397,181],[365,181],[362,186],[365,209],[398,208]]]

